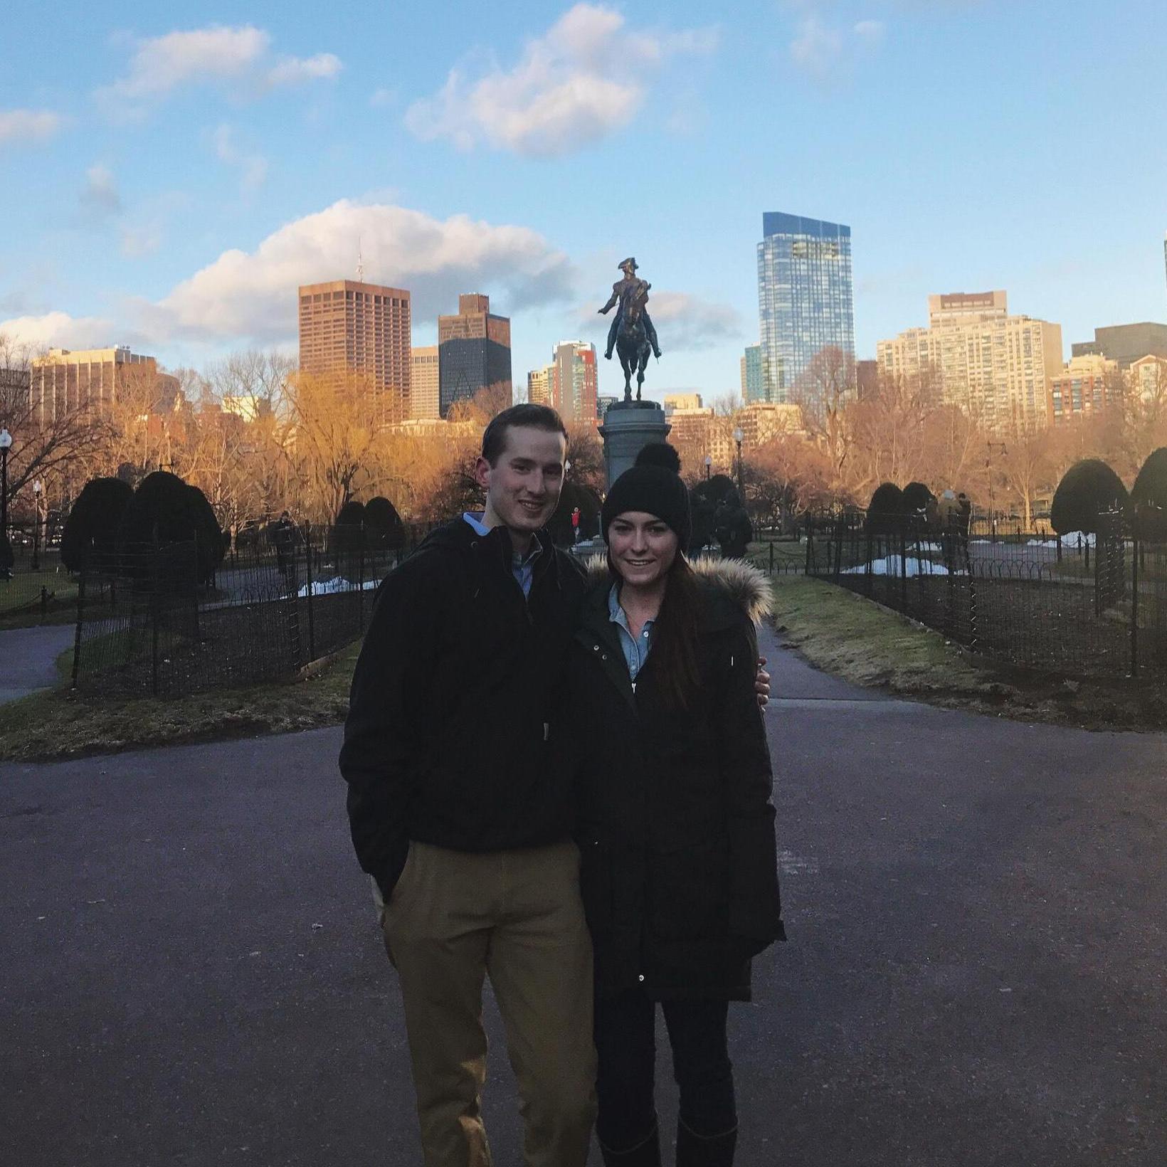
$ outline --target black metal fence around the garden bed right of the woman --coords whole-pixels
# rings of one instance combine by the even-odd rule
[[[1167,672],[1167,545],[1099,516],[1097,536],[993,541],[851,512],[808,524],[805,571],[998,661],[1069,675]]]

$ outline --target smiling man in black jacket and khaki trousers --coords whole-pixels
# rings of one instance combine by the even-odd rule
[[[426,1167],[490,1163],[484,976],[525,1162],[587,1158],[592,946],[568,776],[547,754],[584,574],[540,533],[566,447],[546,406],[490,422],[475,466],[485,513],[439,529],[385,580],[352,679],[341,771],[400,977]]]

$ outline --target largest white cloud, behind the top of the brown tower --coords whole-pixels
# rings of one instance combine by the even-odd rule
[[[567,257],[527,228],[342,200],[285,224],[253,252],[223,252],[160,303],[140,303],[144,327],[210,341],[288,340],[298,285],[350,277],[358,246],[366,279],[407,288],[420,321],[452,310],[471,288],[499,295],[509,310],[571,292]]]

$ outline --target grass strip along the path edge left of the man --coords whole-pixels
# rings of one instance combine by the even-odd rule
[[[359,644],[307,680],[201,693],[175,700],[82,697],[68,690],[0,705],[0,760],[50,761],[142,746],[291,733],[338,725]],[[72,651],[57,669],[67,677]]]

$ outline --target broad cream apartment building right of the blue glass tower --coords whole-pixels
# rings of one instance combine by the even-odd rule
[[[934,379],[942,400],[991,429],[1048,422],[1053,378],[1062,370],[1061,324],[1011,316],[1004,292],[956,292],[928,298],[928,326],[880,341],[880,372]]]

